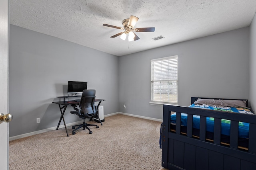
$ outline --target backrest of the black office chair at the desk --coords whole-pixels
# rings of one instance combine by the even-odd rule
[[[84,112],[84,117],[92,116],[96,114],[95,102],[95,90],[83,90],[82,97],[79,103],[80,109]]]

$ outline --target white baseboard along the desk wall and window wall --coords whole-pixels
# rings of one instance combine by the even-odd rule
[[[139,117],[142,119],[149,119],[149,120],[154,120],[154,121],[162,121],[162,119],[155,119],[155,118],[151,118],[151,117],[145,117],[145,116],[139,116],[139,115],[133,115],[133,114],[129,114],[129,113],[122,113],[122,112],[116,112],[116,113],[110,113],[108,115],[104,115],[104,117],[108,117],[108,116],[112,116],[112,115],[117,115],[117,114],[121,114],[121,115],[127,115],[127,116],[133,116],[133,117]],[[73,122],[73,123],[68,123],[66,124],[66,126],[72,126],[72,125],[77,125],[83,123],[83,121],[77,121],[77,122]],[[60,125],[60,128],[65,127],[64,125]],[[44,132],[48,132],[48,131],[52,131],[52,130],[56,130],[57,126],[55,127],[50,127],[48,129],[42,129],[40,131],[34,131],[34,132],[30,132],[30,133],[25,133],[22,135],[17,135],[17,136],[13,136],[13,137],[9,137],[9,141],[15,140],[15,139],[20,139],[23,137],[28,137],[28,136],[32,136],[32,135],[36,135],[36,134],[40,134],[40,133],[44,133]]]

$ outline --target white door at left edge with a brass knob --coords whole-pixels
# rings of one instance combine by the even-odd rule
[[[8,0],[0,0],[0,113],[8,112]],[[9,127],[0,124],[0,169],[9,169]]]

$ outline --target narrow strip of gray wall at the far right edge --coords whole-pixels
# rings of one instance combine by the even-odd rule
[[[256,14],[250,25],[250,104],[256,111]]]

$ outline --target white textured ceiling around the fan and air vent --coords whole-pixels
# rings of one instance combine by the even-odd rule
[[[10,24],[116,56],[127,55],[250,25],[256,0],[9,0]],[[137,41],[110,38],[130,15]],[[157,41],[152,38],[162,35]]]

